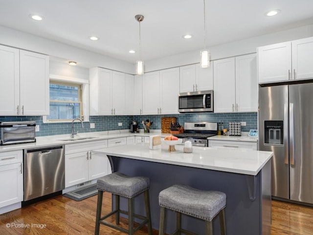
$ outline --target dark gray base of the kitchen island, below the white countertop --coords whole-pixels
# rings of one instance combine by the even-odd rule
[[[185,184],[202,190],[218,190],[226,193],[227,235],[270,235],[271,161],[268,161],[257,175],[248,175],[112,155],[108,155],[112,171],[150,178],[150,203],[154,229],[158,230],[159,226],[159,192],[175,184]],[[143,202],[142,195],[135,198],[136,213],[145,214]],[[114,205],[112,202],[113,207]],[[124,198],[121,198],[121,209],[127,210],[127,200]],[[175,230],[175,215],[172,211],[167,212],[165,230],[167,234]],[[182,216],[182,228],[204,235],[204,221],[197,218]],[[213,230],[214,235],[220,234],[218,218],[213,221]]]

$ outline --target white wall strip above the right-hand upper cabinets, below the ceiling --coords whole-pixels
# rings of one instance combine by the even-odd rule
[[[257,47],[308,37],[313,37],[313,24],[224,45],[208,47],[208,49],[210,50],[210,60],[217,60],[236,55],[253,53],[256,52]],[[145,61],[145,72],[200,63],[200,50],[201,48],[197,51],[189,51],[187,53],[181,53],[170,57]]]

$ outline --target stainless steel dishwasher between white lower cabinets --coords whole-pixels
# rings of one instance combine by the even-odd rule
[[[64,188],[63,145],[24,150],[24,201]]]

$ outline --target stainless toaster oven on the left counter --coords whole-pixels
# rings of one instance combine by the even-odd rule
[[[36,142],[35,121],[3,121],[0,123],[0,145]]]

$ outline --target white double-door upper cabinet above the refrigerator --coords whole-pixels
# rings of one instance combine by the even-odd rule
[[[259,83],[313,78],[313,37],[258,47]]]

